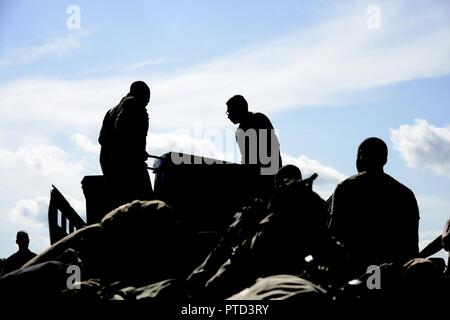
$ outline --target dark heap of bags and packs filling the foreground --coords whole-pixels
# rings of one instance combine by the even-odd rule
[[[439,308],[450,301],[440,260],[385,264],[355,276],[338,246],[309,246],[307,230],[294,232],[286,221],[264,218],[265,207],[255,201],[238,212],[205,260],[196,252],[196,234],[171,207],[134,201],[0,278],[0,301],[291,300],[299,308],[405,301]]]

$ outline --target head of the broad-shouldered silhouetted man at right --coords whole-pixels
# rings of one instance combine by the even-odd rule
[[[368,138],[358,148],[356,168],[358,172],[383,172],[387,162],[387,145],[379,138]]]

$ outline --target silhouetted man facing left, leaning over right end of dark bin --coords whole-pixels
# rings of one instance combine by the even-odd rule
[[[248,103],[241,95],[227,101],[228,119],[239,123],[236,140],[241,152],[242,164],[258,164],[261,174],[273,175],[282,166],[280,144],[275,130],[262,113],[248,111]]]

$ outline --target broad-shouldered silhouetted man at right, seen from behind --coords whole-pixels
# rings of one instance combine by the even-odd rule
[[[417,256],[419,209],[413,192],[387,175],[388,149],[378,138],[358,148],[358,174],[336,187],[330,231],[362,266]],[[365,270],[364,270],[365,271]]]

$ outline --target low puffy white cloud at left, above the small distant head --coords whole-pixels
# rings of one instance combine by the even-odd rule
[[[93,164],[84,157],[84,153],[74,155],[53,145],[0,149],[0,210],[10,213],[6,220],[0,217],[2,229],[30,226],[39,234],[46,230],[41,239],[48,237],[46,214],[52,184],[83,217],[85,204],[80,182],[83,176],[96,173],[89,171]],[[98,160],[95,157],[89,161],[96,164]]]

